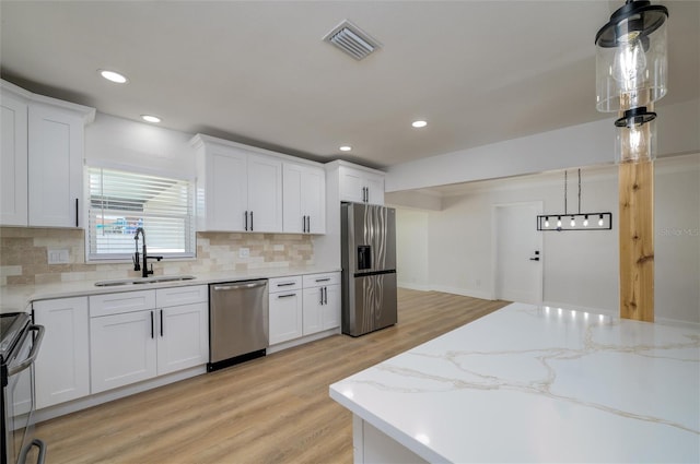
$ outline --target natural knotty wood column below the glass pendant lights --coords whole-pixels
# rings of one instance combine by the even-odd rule
[[[619,165],[620,317],[654,321],[654,162]]]

